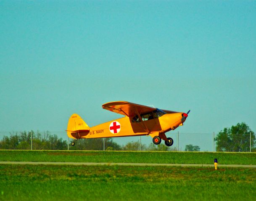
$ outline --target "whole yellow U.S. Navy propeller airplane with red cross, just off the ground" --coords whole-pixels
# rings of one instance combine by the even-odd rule
[[[90,128],[78,114],[72,114],[66,130],[67,135],[75,140],[150,135],[154,144],[160,144],[163,139],[166,146],[170,147],[173,139],[166,137],[165,133],[182,126],[190,112],[161,110],[127,101],[105,103],[102,108],[125,117]],[[74,146],[75,141],[71,145]]]

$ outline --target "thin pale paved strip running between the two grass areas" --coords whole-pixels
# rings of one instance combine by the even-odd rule
[[[171,164],[171,163],[121,163],[121,162],[21,162],[0,161],[0,165],[132,165],[132,166],[181,166],[214,167],[214,164]],[[256,168],[256,165],[218,165],[219,168]]]

